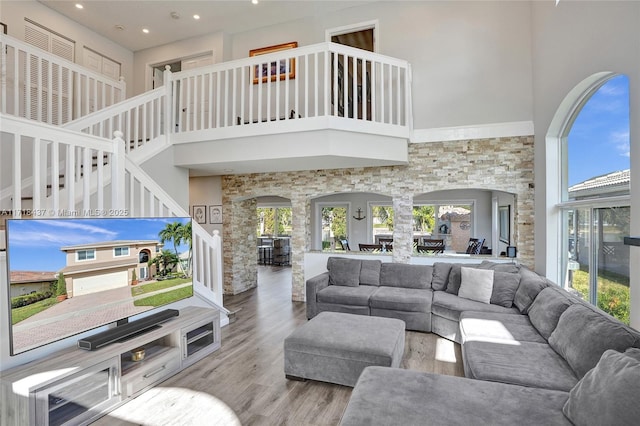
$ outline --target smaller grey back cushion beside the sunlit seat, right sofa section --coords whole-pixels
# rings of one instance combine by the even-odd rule
[[[560,315],[572,304],[567,293],[559,287],[547,287],[529,307],[531,324],[548,340],[558,325]]]

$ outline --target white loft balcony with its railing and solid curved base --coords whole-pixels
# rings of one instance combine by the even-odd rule
[[[171,81],[175,164],[192,174],[407,163],[406,61],[321,43]]]

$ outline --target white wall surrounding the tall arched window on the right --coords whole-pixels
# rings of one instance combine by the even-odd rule
[[[536,153],[536,270],[545,273],[547,211],[545,135],[560,102],[586,77],[611,71],[626,74],[630,86],[631,233],[640,235],[640,3],[532,2],[533,92]],[[553,230],[552,230],[553,231]],[[633,247],[631,325],[640,328],[640,249]],[[555,277],[550,277],[555,279]]]

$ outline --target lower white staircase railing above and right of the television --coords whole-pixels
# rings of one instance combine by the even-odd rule
[[[4,114],[0,129],[0,209],[14,218],[189,216],[125,155],[119,132],[109,140]],[[222,307],[221,239],[195,222],[192,228],[193,282],[228,313]]]

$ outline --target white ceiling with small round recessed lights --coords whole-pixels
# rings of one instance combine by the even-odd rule
[[[134,52],[207,33],[232,34],[371,2],[259,0],[254,5],[251,0],[38,1]],[[76,8],[76,3],[84,8]],[[195,20],[194,14],[200,19]],[[143,34],[142,28],[148,28],[149,33]]]

